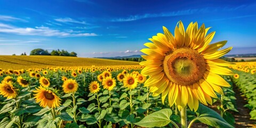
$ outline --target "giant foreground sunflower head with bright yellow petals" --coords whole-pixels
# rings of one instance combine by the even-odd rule
[[[197,22],[191,22],[185,31],[182,22],[175,27],[174,36],[163,27],[164,34],[149,38],[149,49],[142,49],[141,55],[146,61],[142,75],[150,76],[145,86],[150,86],[153,96],[162,93],[162,101],[168,95],[169,105],[174,103],[181,110],[188,107],[197,110],[199,101],[204,105],[212,104],[211,97],[217,98],[214,91],[223,94],[220,86],[230,86],[219,75],[233,75],[232,71],[222,67],[232,63],[218,59],[228,53],[232,47],[219,50],[227,41],[210,44],[215,31],[206,35],[210,28],[204,24],[198,29]],[[209,45],[210,44],[210,45]]]

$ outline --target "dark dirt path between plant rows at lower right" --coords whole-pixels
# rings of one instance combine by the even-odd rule
[[[233,90],[235,91],[236,103],[237,103],[237,110],[239,113],[234,113],[234,117],[236,120],[235,127],[244,128],[244,127],[253,127],[256,128],[256,121],[250,119],[250,110],[244,105],[247,104],[246,98],[242,97],[242,93],[239,91],[238,87],[234,85]]]

